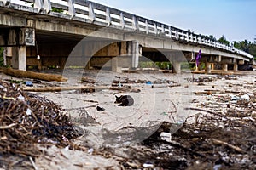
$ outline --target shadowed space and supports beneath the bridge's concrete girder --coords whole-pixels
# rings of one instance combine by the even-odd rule
[[[175,72],[180,72],[182,62],[195,63],[198,53],[142,47],[136,41],[118,41],[58,32],[49,34],[45,31],[36,31],[35,46],[26,46],[26,61],[20,62],[22,61],[20,59],[15,62],[13,57],[15,51],[20,51],[20,47],[9,48],[6,55],[8,64],[22,70],[26,70],[27,67],[36,67],[41,70],[47,67],[64,69],[65,66],[84,66],[86,68],[106,67],[112,71],[120,71],[124,67],[135,68],[139,62],[153,61],[170,62],[172,65],[170,69]],[[22,66],[17,64],[19,62]],[[220,69],[227,71],[230,65],[237,70],[238,64],[243,65],[244,61],[202,54],[201,63],[205,63],[206,71],[210,73],[214,69],[214,64],[222,65]]]

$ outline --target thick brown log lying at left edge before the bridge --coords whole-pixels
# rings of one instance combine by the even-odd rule
[[[33,72],[33,71],[20,71],[12,68],[0,68],[6,75],[14,76],[14,77],[26,77],[38,80],[44,80],[48,82],[56,81],[56,82],[67,82],[67,78],[62,77],[61,75]]]

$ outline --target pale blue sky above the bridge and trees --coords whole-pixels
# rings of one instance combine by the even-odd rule
[[[90,1],[230,42],[256,38],[256,0]]]

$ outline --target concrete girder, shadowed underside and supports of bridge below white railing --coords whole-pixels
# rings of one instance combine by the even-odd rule
[[[38,16],[39,17],[39,16]],[[8,47],[6,59],[15,69],[27,66],[42,69],[55,66],[137,68],[139,61],[172,63],[173,71],[180,72],[182,62],[195,62],[199,49],[201,62],[211,72],[212,63],[223,65],[245,64],[249,59],[202,45],[188,44],[155,35],[131,31],[102,29],[100,26],[67,23],[67,20],[32,20],[19,15],[0,14],[0,46]],[[12,20],[9,22],[9,20]],[[143,58],[144,56],[144,58]]]

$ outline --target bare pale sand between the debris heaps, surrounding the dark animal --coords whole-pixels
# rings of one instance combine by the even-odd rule
[[[241,74],[241,72],[238,72]],[[175,133],[188,116],[196,114],[198,111],[185,110],[185,108],[198,107],[198,103],[209,102],[211,98],[221,96],[225,91],[245,92],[250,90],[247,86],[255,84],[256,72],[244,71],[243,75],[231,75],[229,78],[221,75],[192,74],[189,72],[182,74],[162,73],[159,71],[137,71],[137,73],[116,73],[112,71],[81,71],[66,70],[63,76],[68,78],[67,82],[34,82],[34,87],[47,86],[76,86],[76,85],[104,85],[109,89],[96,90],[93,93],[81,91],[46,92],[36,93],[47,99],[53,100],[67,110],[67,114],[73,117],[74,123],[83,127],[86,135],[81,137],[77,143],[86,142],[90,148],[99,150],[102,146],[112,146],[117,148],[120,144],[136,144],[143,139],[147,139],[160,126],[161,122],[172,122],[174,125],[170,133]],[[81,77],[95,79],[96,83],[81,82]],[[158,81],[160,84],[131,83],[121,84],[139,89],[140,92],[121,92],[111,90],[113,80],[147,80]],[[209,82],[196,82],[199,78],[207,78]],[[0,75],[1,79],[15,79]],[[20,79],[26,80],[26,79]],[[194,80],[194,81],[192,81]],[[169,87],[174,83],[180,86]],[[152,88],[154,85],[154,88]],[[207,95],[209,92],[211,95]],[[130,94],[135,104],[127,107],[120,107],[114,104],[115,95]],[[101,106],[105,111],[97,111],[96,105]],[[214,111],[222,111],[225,108],[214,108]],[[82,123],[83,115],[92,117],[90,123]],[[80,119],[80,121],[79,121]],[[125,135],[111,136],[125,127],[149,128],[143,130],[139,138],[128,139]],[[132,132],[129,132],[134,133]],[[126,133],[127,134],[127,133]],[[113,139],[111,139],[113,138]],[[57,149],[51,147],[45,150],[45,155],[38,158],[36,164],[38,169],[106,169],[113,167],[119,169],[119,159],[115,156],[91,156],[88,153],[75,150]],[[119,150],[119,152],[125,152]],[[121,153],[125,155],[125,153]]]

